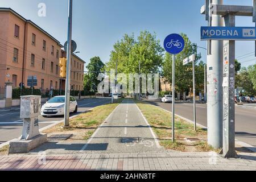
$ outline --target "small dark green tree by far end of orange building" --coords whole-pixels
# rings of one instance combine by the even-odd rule
[[[87,84],[90,83],[90,89],[93,90],[93,92],[96,92],[97,85],[100,83],[98,81],[98,75],[100,75],[101,72],[104,72],[105,64],[101,61],[100,57],[92,57],[90,59],[90,63],[86,66],[88,70],[88,77],[86,76]]]

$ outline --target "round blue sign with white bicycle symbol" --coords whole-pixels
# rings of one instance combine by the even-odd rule
[[[183,51],[185,42],[182,36],[179,34],[170,34],[164,40],[164,49],[172,55],[176,55]]]

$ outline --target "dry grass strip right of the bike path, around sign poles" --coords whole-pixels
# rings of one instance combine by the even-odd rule
[[[207,131],[200,127],[195,131],[191,123],[179,117],[175,117],[176,140],[172,142],[171,114],[157,106],[147,104],[147,102],[135,102],[158,137],[160,145],[164,148],[184,152],[206,152],[214,150],[207,144]]]

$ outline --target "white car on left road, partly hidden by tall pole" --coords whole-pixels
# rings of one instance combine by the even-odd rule
[[[65,96],[56,96],[51,98],[46,104],[41,108],[41,115],[43,117],[54,116],[54,115],[64,115],[64,105]],[[69,111],[77,112],[77,102],[74,97],[70,97]]]

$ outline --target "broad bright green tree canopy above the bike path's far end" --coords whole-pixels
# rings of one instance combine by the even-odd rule
[[[115,69],[118,63],[118,73],[138,73],[140,60],[142,73],[156,73],[163,61],[163,51],[155,33],[142,31],[137,39],[134,34],[125,34],[123,39],[114,44],[106,70]]]

